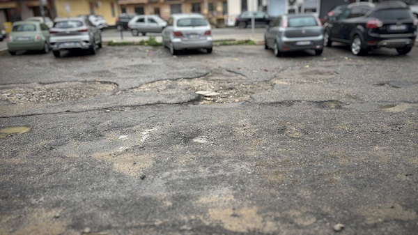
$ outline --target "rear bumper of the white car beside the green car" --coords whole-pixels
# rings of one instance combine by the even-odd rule
[[[75,36],[51,38],[52,50],[88,49],[91,47],[90,36]]]

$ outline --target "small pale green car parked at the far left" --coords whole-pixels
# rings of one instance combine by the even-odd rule
[[[12,24],[7,40],[8,51],[38,50],[49,52],[49,28],[41,22],[18,21]]]

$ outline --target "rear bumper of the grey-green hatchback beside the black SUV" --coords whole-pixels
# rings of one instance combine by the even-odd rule
[[[322,35],[309,38],[281,38],[279,41],[279,50],[281,52],[322,50],[324,44],[324,38]]]

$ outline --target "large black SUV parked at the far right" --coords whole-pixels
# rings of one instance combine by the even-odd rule
[[[407,54],[415,43],[417,24],[410,8],[401,1],[351,3],[324,24],[324,46],[336,41],[350,45],[355,55],[380,47]]]

